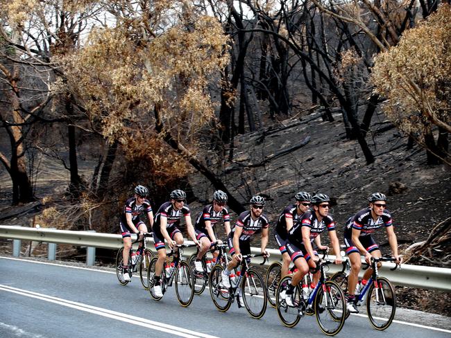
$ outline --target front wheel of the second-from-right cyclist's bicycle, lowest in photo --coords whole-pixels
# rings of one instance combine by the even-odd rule
[[[321,331],[328,336],[337,335],[346,320],[346,300],[341,287],[334,281],[326,281],[318,288],[314,307]]]

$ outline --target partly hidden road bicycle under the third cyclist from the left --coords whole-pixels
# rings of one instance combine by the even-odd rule
[[[229,256],[227,256],[227,250],[228,250],[227,244],[215,243],[214,247],[212,247],[212,249],[207,251],[207,253],[210,253],[210,252],[213,253],[214,251],[219,251],[219,254],[216,257],[216,260],[213,260],[213,259],[207,259],[207,253],[205,253],[205,255],[201,259],[203,272],[196,272],[196,265],[194,264],[194,262],[196,261],[197,253],[193,253],[189,257],[188,263],[189,263],[189,266],[191,267],[191,269],[193,270],[193,274],[194,274],[194,294],[197,294],[197,295],[202,294],[202,292],[205,290],[205,287],[207,287],[208,280],[210,278],[210,271],[212,270],[212,267],[214,267],[214,265],[216,265],[216,263],[222,265],[224,268],[227,267],[227,265],[231,259]],[[210,263],[210,265],[208,264],[209,260],[212,261],[212,263]]]

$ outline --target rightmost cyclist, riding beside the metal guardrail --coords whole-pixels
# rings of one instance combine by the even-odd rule
[[[384,225],[393,257],[396,263],[401,264],[402,262],[402,258],[398,255],[398,240],[393,229],[391,214],[386,209],[386,196],[382,193],[373,193],[368,198],[368,202],[368,208],[362,209],[348,219],[343,234],[346,253],[351,263],[351,271],[348,277],[346,308],[352,313],[359,312],[355,305],[355,287],[361,269],[360,254],[365,256],[366,263],[368,264],[370,264],[372,256],[377,258],[382,256],[371,233]],[[378,263],[378,267],[380,267],[380,263]],[[368,281],[371,274],[372,269],[367,269],[362,278],[362,284]]]

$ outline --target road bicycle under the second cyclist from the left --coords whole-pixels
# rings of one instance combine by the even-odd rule
[[[176,294],[179,303],[183,307],[189,306],[194,298],[194,276],[191,267],[186,260],[183,259],[183,249],[187,247],[196,247],[196,244],[176,244],[174,247],[178,251],[171,250],[167,253],[167,257],[172,257],[172,263],[165,263],[162,268],[160,283],[163,295],[167,292],[168,287],[175,282]],[[178,254],[177,254],[178,253]],[[151,264],[147,270],[148,291],[155,301],[160,301],[163,297],[155,295],[153,286],[155,285],[155,267],[158,257],[151,260]]]

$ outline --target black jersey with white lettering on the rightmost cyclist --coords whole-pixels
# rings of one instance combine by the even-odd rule
[[[380,217],[377,217],[377,220],[373,220],[371,208],[364,208],[348,219],[344,235],[350,237],[352,235],[352,229],[361,231],[359,237],[371,235],[371,233],[382,225],[385,227],[392,226],[390,211],[384,210],[384,213]]]

